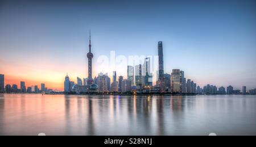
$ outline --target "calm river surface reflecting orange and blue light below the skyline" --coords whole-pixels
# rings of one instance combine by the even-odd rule
[[[255,95],[0,94],[0,135],[256,135]]]

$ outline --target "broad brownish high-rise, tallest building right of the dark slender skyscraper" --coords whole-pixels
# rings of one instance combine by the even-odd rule
[[[181,74],[179,69],[173,69],[171,74],[172,93],[182,93]]]

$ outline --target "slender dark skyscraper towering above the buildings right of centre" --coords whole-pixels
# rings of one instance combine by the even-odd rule
[[[164,91],[164,62],[163,62],[163,42],[158,41],[158,86],[160,92]]]

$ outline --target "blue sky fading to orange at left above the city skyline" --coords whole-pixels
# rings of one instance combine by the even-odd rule
[[[155,56],[163,41],[164,72],[181,69],[201,87],[256,88],[255,1],[0,1],[0,74],[5,84],[112,77],[98,58]],[[105,68],[104,68],[105,67]],[[115,69],[117,75],[127,72]]]

